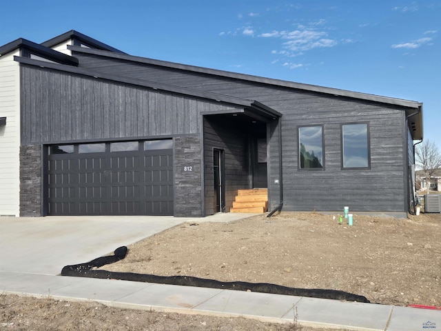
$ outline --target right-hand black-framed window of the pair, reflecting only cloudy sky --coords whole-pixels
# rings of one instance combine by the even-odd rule
[[[368,123],[342,125],[342,168],[369,168]]]

